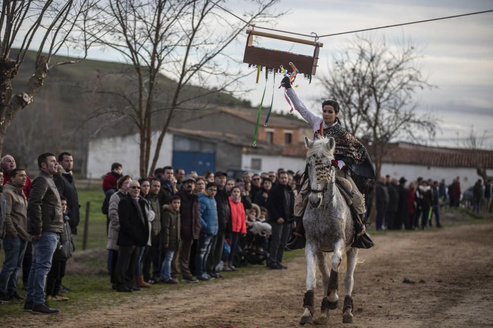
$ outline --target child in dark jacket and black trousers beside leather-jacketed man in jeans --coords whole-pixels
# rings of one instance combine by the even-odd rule
[[[46,279],[46,299],[66,301],[69,298],[60,294],[60,286],[62,285],[62,278],[65,276],[67,261],[72,257],[72,252],[75,251],[75,244],[70,231],[67,198],[60,196],[60,199],[62,200],[64,225]]]

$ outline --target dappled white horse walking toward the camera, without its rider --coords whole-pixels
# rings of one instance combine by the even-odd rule
[[[303,216],[306,231],[307,292],[303,299],[305,310],[300,325],[311,324],[315,314],[314,298],[317,281],[315,259],[323,281],[323,299],[316,323],[325,323],[329,309],[337,308],[338,272],[344,252],[347,255],[347,271],[344,279],[346,297],[343,306],[343,323],[352,323],[351,293],[358,249],[351,247],[354,226],[350,208],[335,185],[338,169],[332,164],[335,141],[333,138],[323,138],[314,142],[305,137],[305,145],[308,149],[306,158],[310,195],[309,205]],[[330,275],[326,265],[328,252],[333,252]]]

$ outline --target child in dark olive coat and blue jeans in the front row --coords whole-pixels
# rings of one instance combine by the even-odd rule
[[[161,282],[165,284],[178,283],[178,280],[171,277],[171,261],[173,254],[178,251],[180,240],[180,203],[180,196],[173,196],[170,205],[163,206],[161,214],[161,249],[164,258],[161,267]]]

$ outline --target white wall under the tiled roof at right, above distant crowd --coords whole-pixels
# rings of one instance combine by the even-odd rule
[[[405,177],[408,181],[416,180],[418,177],[423,179],[433,179],[440,181],[445,179],[445,183],[448,185],[452,183],[452,180],[456,177],[460,178],[460,186],[462,190],[467,189],[474,185],[474,183],[480,179],[476,173],[475,168],[452,168],[452,167],[438,167],[438,166],[425,166],[425,165],[409,165],[409,164],[382,164],[382,175],[389,174],[392,177],[399,179]],[[489,177],[493,176],[493,170],[488,170]]]

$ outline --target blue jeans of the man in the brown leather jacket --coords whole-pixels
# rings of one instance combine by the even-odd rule
[[[28,289],[26,301],[33,301],[34,305],[45,302],[44,284],[46,275],[51,268],[53,253],[57,247],[58,234],[54,232],[43,232],[39,240],[33,242],[33,265],[29,272]]]

